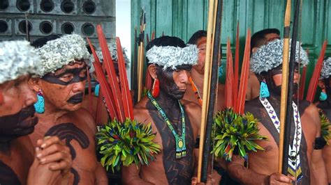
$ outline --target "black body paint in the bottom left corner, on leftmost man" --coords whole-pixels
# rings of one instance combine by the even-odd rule
[[[15,172],[0,161],[0,184],[1,185],[20,185],[20,179],[18,179]]]

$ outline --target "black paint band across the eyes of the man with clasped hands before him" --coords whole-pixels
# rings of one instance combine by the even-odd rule
[[[45,76],[42,78],[43,80],[47,81],[48,83],[54,83],[59,84],[61,86],[68,86],[71,83],[77,83],[80,81],[85,81],[87,79],[87,73],[84,74],[84,77],[80,77],[80,73],[82,70],[86,70],[86,67],[80,67],[80,68],[73,68],[68,69],[65,72],[62,72],[61,74],[54,75],[52,73],[45,74]],[[64,77],[66,74],[72,74],[73,77],[69,81],[62,81],[61,77]]]

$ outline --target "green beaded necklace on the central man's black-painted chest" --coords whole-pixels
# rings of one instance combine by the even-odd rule
[[[175,137],[175,143],[176,143],[176,159],[181,159],[182,157],[186,156],[186,143],[185,143],[185,113],[184,109],[182,107],[182,104],[178,100],[180,112],[182,113],[182,136],[179,136],[177,132],[175,131],[174,127],[172,127],[172,124],[170,120],[168,119],[167,115],[165,115],[165,112],[162,110],[158,102],[156,102],[156,99],[151,95],[151,93],[147,93],[147,97],[152,102],[152,104],[155,106],[155,108],[159,111],[161,114],[163,120],[167,123],[168,128],[172,132],[172,135]]]

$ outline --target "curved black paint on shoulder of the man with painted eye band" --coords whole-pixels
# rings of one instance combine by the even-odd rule
[[[86,134],[84,134],[84,131],[76,127],[75,124],[71,122],[61,123],[51,127],[45,133],[45,136],[58,136],[61,140],[65,139],[73,160],[76,157],[76,152],[70,144],[71,140],[77,141],[82,149],[87,149],[87,147],[89,147],[89,138],[87,138]],[[71,168],[71,173],[74,175],[73,184],[78,184],[80,182],[80,175],[74,168]]]

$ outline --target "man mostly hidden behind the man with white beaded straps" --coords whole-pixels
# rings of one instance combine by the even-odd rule
[[[268,42],[279,39],[278,29],[263,29],[251,36],[251,54],[255,53],[258,48],[266,45]],[[260,81],[256,75],[249,71],[249,81],[247,84],[246,99],[251,100],[260,95]]]

